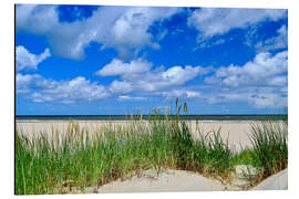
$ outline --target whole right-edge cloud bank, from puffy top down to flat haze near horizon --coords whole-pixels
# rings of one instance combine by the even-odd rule
[[[288,52],[259,53],[243,66],[219,67],[205,78],[206,102],[248,103],[255,108],[282,108],[288,105]],[[218,87],[216,86],[218,85]]]

